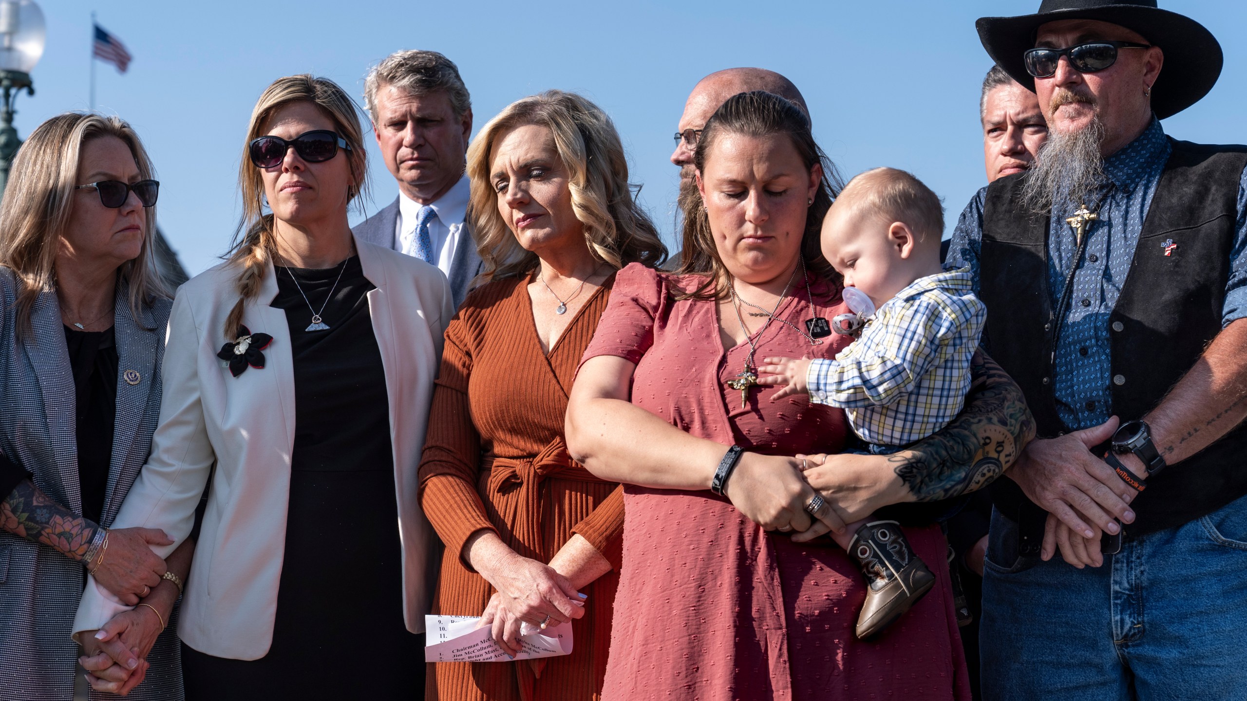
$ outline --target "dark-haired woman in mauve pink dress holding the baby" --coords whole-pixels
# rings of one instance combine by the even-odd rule
[[[696,165],[681,269],[620,271],[567,410],[576,459],[625,483],[602,697],[969,699],[934,521],[946,505],[892,509],[939,581],[870,641],[853,634],[858,568],[821,536],[999,476],[1033,434],[1020,392],[980,354],[945,430],[895,455],[827,458],[849,438],[843,412],[772,402],[748,374],[767,355],[833,357],[848,341],[817,321],[848,311],[818,242],[832,166],[804,114],[766,92],[720,107]],[[743,453],[720,495],[729,447]]]

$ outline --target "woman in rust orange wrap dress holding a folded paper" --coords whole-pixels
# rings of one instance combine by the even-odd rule
[[[468,151],[488,282],[446,328],[420,504],[446,545],[434,611],[484,616],[504,650],[520,624],[572,622],[574,650],[439,662],[428,699],[597,699],[606,672],[622,493],[567,457],[567,392],[615,271],[666,248],[627,183],[610,118],[579,95],[520,100]]]

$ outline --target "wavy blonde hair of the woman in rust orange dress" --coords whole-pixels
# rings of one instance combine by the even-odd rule
[[[468,217],[485,262],[481,279],[520,276],[537,267],[536,253],[520,246],[499,213],[498,193],[489,182],[494,142],[525,125],[550,130],[559,160],[567,168],[572,212],[585,226],[585,243],[594,258],[616,269],[632,262],[656,267],[667,259],[658,231],[632,198],[627,158],[611,118],[580,95],[550,90],[511,102],[489,120],[468,148]]]

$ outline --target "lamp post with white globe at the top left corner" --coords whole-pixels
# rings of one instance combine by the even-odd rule
[[[0,192],[21,146],[12,105],[22,90],[35,94],[30,71],[44,55],[45,41],[44,12],[34,0],[0,0]]]

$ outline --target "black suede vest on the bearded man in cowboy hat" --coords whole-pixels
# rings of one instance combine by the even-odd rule
[[[1122,422],[1143,418],[1221,332],[1247,147],[1170,143],[1121,296],[1104,319],[1111,329],[1111,410]],[[1052,394],[1049,217],[1028,215],[1018,205],[1023,177],[988,187],[980,258],[985,337],[993,358],[1021,385],[1039,435],[1051,438],[1070,428]],[[1166,256],[1168,239],[1177,247]],[[1245,450],[1247,427],[1240,427],[1150,479],[1132,503],[1137,519],[1126,526],[1126,538],[1185,524],[1247,494]],[[1038,553],[1042,509],[1009,479],[993,485],[993,498],[1005,516],[1019,521],[1020,551]]]

